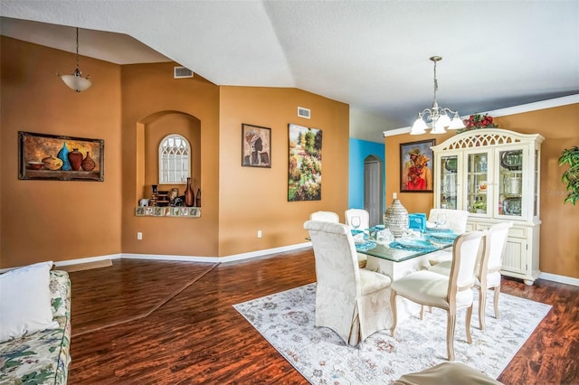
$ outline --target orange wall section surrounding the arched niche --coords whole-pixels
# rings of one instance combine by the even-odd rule
[[[122,251],[215,257],[219,252],[219,88],[196,74],[193,79],[173,79],[175,65],[122,67]],[[195,120],[200,123],[200,137],[189,129],[198,124]],[[136,217],[138,200],[150,197],[151,184],[158,178],[157,162],[150,157],[157,159],[156,148],[171,131],[185,134],[194,144],[201,142],[201,178],[195,171],[192,174],[195,190],[200,187],[203,196],[201,217]],[[138,150],[139,143],[144,147]],[[177,187],[183,194],[185,186]],[[142,240],[137,232],[143,233]]]

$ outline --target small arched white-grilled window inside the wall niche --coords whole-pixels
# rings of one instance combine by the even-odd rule
[[[185,184],[191,176],[191,146],[184,136],[167,135],[159,145],[159,184]]]

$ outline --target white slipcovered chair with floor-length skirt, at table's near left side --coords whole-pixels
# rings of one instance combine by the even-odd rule
[[[316,259],[316,326],[352,346],[390,327],[390,277],[358,267],[350,229],[327,221],[306,221],[304,229]]]

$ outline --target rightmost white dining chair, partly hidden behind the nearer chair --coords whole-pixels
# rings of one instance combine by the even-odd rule
[[[493,225],[487,230],[485,249],[479,258],[477,279],[475,286],[479,288],[479,328],[485,330],[485,308],[487,306],[487,292],[494,289],[493,305],[495,318],[498,318],[498,294],[500,293],[500,269],[503,265],[503,255],[507,247],[508,229],[513,226],[512,222],[502,222]],[[444,261],[432,266],[429,270],[448,276],[451,271],[451,263]]]

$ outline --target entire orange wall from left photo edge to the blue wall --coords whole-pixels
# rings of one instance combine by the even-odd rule
[[[84,57],[81,69],[93,85],[75,93],[54,76],[73,70],[73,54],[4,36],[0,42],[0,268],[119,253],[217,257],[284,247],[305,241],[309,212],[346,210],[346,104],[299,89],[220,88],[196,74],[174,80],[175,63],[119,66]],[[312,118],[297,117],[298,106],[310,108]],[[271,127],[271,169],[241,166],[242,123]],[[322,201],[287,201],[289,123],[323,130]],[[193,175],[201,218],[135,216],[158,173],[147,151],[167,127],[200,128],[191,136],[201,145]],[[105,181],[19,181],[19,130],[104,139]]]

